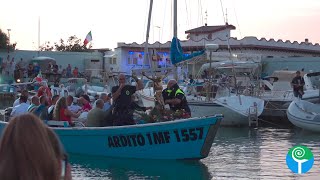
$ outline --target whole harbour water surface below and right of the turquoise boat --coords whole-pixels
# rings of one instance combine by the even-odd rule
[[[320,134],[272,127],[220,128],[207,158],[200,161],[128,160],[71,155],[74,179],[320,179]],[[309,147],[313,168],[295,175],[286,155]]]

